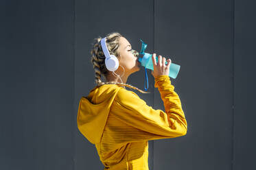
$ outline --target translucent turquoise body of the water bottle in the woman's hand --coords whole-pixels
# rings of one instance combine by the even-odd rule
[[[154,70],[153,62],[152,62],[152,54],[144,53],[143,58],[139,58],[139,62],[141,62],[141,66],[145,66],[146,69]],[[156,57],[156,62],[158,62],[158,58]],[[167,64],[167,62],[165,62]],[[178,72],[180,71],[181,66],[178,64],[171,63],[169,77],[176,78]]]

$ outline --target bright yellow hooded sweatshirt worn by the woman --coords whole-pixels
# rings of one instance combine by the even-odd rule
[[[168,75],[154,79],[165,106],[154,110],[116,84],[93,88],[80,99],[78,130],[97,149],[104,170],[148,170],[148,141],[187,134],[181,100]]]

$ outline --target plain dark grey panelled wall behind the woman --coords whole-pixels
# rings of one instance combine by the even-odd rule
[[[150,141],[150,169],[253,169],[255,1],[0,1],[0,169],[104,169],[76,125],[93,38],[120,32],[181,65],[186,136]],[[135,91],[163,108],[154,77]],[[143,90],[144,69],[128,84]],[[132,90],[132,89],[130,89]]]

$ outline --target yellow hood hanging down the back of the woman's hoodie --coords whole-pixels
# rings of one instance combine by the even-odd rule
[[[87,97],[81,97],[78,106],[78,130],[91,143],[100,143],[110,107],[120,88],[117,84],[104,84],[93,88]]]

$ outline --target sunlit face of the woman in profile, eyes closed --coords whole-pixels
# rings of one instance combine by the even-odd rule
[[[124,66],[126,73],[134,73],[139,71],[139,61],[135,56],[135,51],[132,50],[130,42],[124,37],[119,38],[119,65]]]

